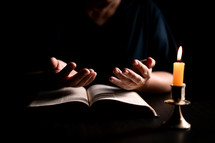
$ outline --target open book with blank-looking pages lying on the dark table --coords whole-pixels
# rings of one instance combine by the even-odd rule
[[[132,110],[138,108],[140,111],[148,111],[154,116],[158,116],[156,111],[137,92],[103,84],[95,84],[87,89],[84,87],[64,87],[40,91],[29,107],[47,107],[74,102],[83,103],[88,107],[94,107],[96,104],[105,105],[108,106],[107,108],[123,104]],[[119,106],[114,108],[118,109]],[[124,107],[124,110],[128,109]],[[100,106],[100,108],[102,107]]]

